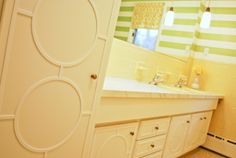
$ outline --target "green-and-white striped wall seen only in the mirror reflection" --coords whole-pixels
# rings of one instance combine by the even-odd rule
[[[157,50],[173,55],[185,55],[186,48],[193,43],[196,22],[198,19],[199,1],[160,1],[160,0],[122,0],[120,14],[117,22],[115,37],[128,41],[131,34],[130,26],[134,6],[137,3],[165,2],[164,14],[171,5],[175,10],[173,27],[160,26],[157,41]],[[164,18],[162,18],[162,22]]]

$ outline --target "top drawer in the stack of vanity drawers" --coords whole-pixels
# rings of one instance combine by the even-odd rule
[[[154,137],[168,132],[170,118],[142,121],[137,139]]]

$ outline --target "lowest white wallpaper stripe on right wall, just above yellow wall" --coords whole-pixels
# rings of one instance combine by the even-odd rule
[[[225,55],[204,54],[202,52],[195,52],[194,58],[214,61],[214,62],[221,62],[221,63],[226,63],[226,64],[236,64],[236,57],[230,57],[230,56],[225,56]]]

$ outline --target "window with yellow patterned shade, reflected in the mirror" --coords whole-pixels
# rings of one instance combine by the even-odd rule
[[[129,37],[129,41],[155,51],[163,8],[163,2],[137,3],[134,6],[130,26],[134,36]]]

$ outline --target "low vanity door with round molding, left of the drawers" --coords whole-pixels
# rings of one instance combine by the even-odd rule
[[[138,123],[97,128],[91,158],[130,158]]]

